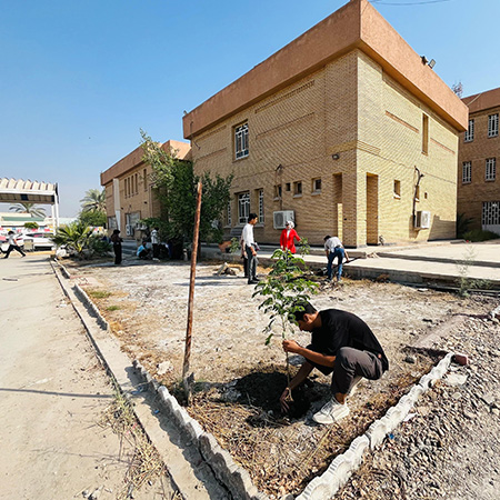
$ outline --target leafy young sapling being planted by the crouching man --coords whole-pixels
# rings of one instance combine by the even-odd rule
[[[309,251],[306,239],[301,240],[300,251],[302,257]],[[287,338],[287,332],[293,333],[293,326],[297,324],[294,313],[303,311],[301,303],[308,302],[312,293],[318,292],[318,283],[303,278],[306,263],[303,258],[293,256],[289,250],[274,250],[272,254],[272,269],[267,278],[256,286],[253,297],[262,296],[264,300],[259,306],[266,313],[270,314],[266,344],[269,344],[274,336],[274,327],[282,339]],[[290,366],[287,354],[287,377],[290,384]]]

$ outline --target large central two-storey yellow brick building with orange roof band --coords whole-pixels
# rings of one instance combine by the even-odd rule
[[[352,0],[183,118],[194,170],[234,174],[226,229],[276,243],[454,238],[468,110],[366,0]],[[423,174],[423,177],[421,177]]]

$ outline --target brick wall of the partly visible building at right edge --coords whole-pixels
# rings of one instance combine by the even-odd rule
[[[457,212],[472,218],[470,229],[481,229],[482,202],[500,202],[500,137],[488,137],[488,116],[500,113],[500,107],[471,113],[469,118],[474,120],[474,139],[471,142],[463,141],[463,133],[459,139],[458,164],[458,200]],[[486,160],[497,158],[497,178],[494,181],[486,180]],[[462,182],[462,163],[470,161],[472,176],[470,183]]]

